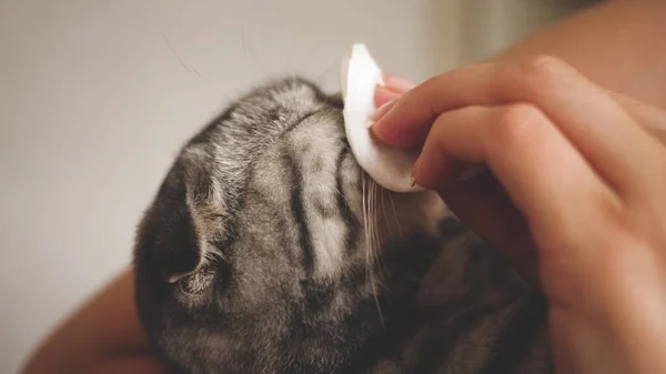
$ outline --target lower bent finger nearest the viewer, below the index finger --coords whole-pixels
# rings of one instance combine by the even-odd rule
[[[486,163],[546,251],[554,243],[588,246],[591,229],[619,214],[612,190],[533,105],[467,107],[440,115],[414,170],[416,183],[446,188],[438,182],[447,172],[442,154]]]

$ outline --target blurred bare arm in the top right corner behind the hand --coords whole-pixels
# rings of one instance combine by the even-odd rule
[[[563,19],[493,61],[551,54],[607,89],[666,108],[666,1],[616,0]]]

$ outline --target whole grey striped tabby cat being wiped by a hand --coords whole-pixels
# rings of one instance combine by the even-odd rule
[[[549,373],[545,303],[432,192],[377,186],[339,99],[258,88],[193,137],[138,231],[174,373]]]

